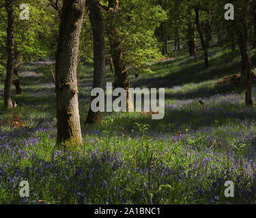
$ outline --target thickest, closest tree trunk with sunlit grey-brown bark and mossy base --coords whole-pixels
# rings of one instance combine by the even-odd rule
[[[85,0],[64,0],[56,53],[57,144],[81,144],[76,78]]]

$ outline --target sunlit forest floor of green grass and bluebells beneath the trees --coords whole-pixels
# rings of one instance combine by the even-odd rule
[[[231,60],[230,50],[212,46],[206,69],[201,50],[197,62],[186,50],[140,78],[130,75],[131,87],[165,88],[162,120],[106,112],[103,125],[85,125],[93,67],[80,66],[84,143],[66,151],[54,147],[54,66],[24,65],[23,95],[13,89],[15,116],[0,99],[0,204],[256,204],[256,107],[245,107],[240,85],[216,86],[239,74],[239,53]],[[253,56],[254,70],[255,63]],[[106,80],[113,82],[109,66]],[[23,180],[29,198],[19,196]],[[224,195],[226,181],[235,185],[234,198]]]

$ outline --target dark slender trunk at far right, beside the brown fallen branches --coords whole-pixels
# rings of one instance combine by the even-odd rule
[[[242,56],[244,56],[245,61],[245,76],[246,76],[246,93],[245,93],[245,102],[246,106],[252,106],[253,100],[251,99],[251,70],[252,64],[251,59],[248,55],[248,12],[250,10],[251,4],[253,0],[248,0],[244,9],[244,19],[243,19],[243,27],[244,27],[244,37],[242,40],[243,44],[243,52]]]

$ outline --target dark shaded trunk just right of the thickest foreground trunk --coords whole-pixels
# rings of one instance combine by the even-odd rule
[[[93,41],[94,41],[94,88],[104,89],[105,82],[105,42],[104,42],[104,21],[98,0],[86,0],[89,20],[91,22]],[[91,97],[91,101],[96,97]],[[102,123],[102,112],[93,112],[91,107],[85,123],[98,124]]]

